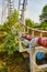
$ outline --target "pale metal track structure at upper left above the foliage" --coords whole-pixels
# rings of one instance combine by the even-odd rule
[[[1,22],[8,20],[8,17],[10,17],[14,11],[14,0],[2,0],[2,17]]]

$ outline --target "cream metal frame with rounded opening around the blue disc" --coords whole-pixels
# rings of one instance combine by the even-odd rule
[[[44,47],[36,47],[33,56],[34,72],[47,72],[47,49]]]

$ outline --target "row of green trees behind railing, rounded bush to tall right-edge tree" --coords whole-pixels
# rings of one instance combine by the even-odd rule
[[[43,8],[42,14],[39,16],[39,20],[40,23],[36,25],[31,19],[26,19],[26,27],[36,28],[39,30],[47,30],[47,6]]]

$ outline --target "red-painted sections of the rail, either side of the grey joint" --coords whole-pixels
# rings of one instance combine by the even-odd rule
[[[32,35],[28,34],[22,34],[22,37],[28,41],[31,41],[33,38]],[[38,38],[38,42],[39,45],[47,48],[47,38]]]

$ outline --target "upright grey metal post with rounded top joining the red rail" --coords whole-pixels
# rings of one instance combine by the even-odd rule
[[[33,54],[35,53],[35,47],[37,45],[38,38],[33,38],[30,42],[30,68],[33,72]]]

